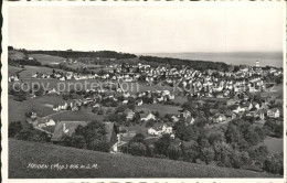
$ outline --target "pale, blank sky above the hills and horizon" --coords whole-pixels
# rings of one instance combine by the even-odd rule
[[[283,51],[283,3],[9,7],[9,45],[126,53]]]

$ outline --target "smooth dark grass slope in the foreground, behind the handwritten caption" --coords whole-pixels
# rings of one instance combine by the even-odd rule
[[[38,164],[97,164],[91,170],[38,170]],[[267,173],[191,164],[171,160],[108,154],[104,152],[65,148],[9,139],[9,177],[269,177]]]

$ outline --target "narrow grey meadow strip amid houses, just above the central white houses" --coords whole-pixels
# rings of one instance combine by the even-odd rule
[[[137,106],[137,110],[141,111],[144,110],[145,112],[148,111],[159,111],[160,116],[164,116],[166,114],[179,114],[181,110],[181,107],[179,106],[171,106],[171,105],[162,105],[162,104],[151,104],[151,105],[142,105],[142,106]]]

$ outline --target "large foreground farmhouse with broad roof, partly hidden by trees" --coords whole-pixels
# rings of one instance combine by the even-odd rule
[[[91,121],[59,121],[55,126],[51,141],[54,143],[61,142],[63,136],[72,136],[76,128],[81,125],[85,127]],[[106,131],[106,140],[109,142],[110,151],[117,151],[117,134],[118,128],[114,122],[104,122]]]

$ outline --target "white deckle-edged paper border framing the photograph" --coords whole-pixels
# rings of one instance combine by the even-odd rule
[[[206,6],[217,6],[219,3],[225,3],[226,6],[232,3],[246,3],[246,4],[251,4],[251,3],[280,3],[283,9],[285,9],[285,12],[287,12],[286,9],[286,2],[284,1],[227,1],[227,2],[222,2],[222,1],[200,1],[200,2],[191,2],[191,1],[173,1],[173,2],[169,2],[169,1],[137,1],[137,2],[131,2],[131,1],[41,1],[41,2],[35,2],[35,1],[17,1],[17,2],[11,2],[11,1],[4,1],[2,3],[2,17],[3,17],[3,24],[2,24],[2,54],[1,54],[1,61],[2,61],[2,68],[1,68],[1,75],[2,75],[2,80],[1,80],[1,88],[2,88],[2,95],[1,95],[1,104],[2,104],[2,110],[1,110],[1,121],[2,121],[2,128],[1,128],[1,146],[2,146],[2,153],[1,153],[1,162],[2,162],[2,166],[1,166],[1,172],[2,172],[2,181],[3,182],[17,182],[17,183],[21,183],[21,182],[45,182],[45,183],[50,183],[50,182],[70,182],[70,183],[74,183],[74,182],[95,182],[95,183],[104,183],[104,182],[130,182],[130,183],[146,183],[146,182],[158,182],[158,183],[168,183],[168,182],[196,182],[196,183],[215,183],[215,182],[234,182],[234,183],[242,183],[242,182],[246,182],[246,183],[286,183],[286,126],[287,126],[287,121],[286,121],[286,115],[287,115],[287,110],[286,110],[286,98],[287,98],[287,93],[286,93],[286,82],[287,82],[287,63],[286,63],[286,14],[285,17],[283,17],[283,32],[284,32],[284,42],[283,42],[283,47],[284,47],[284,60],[283,60],[283,65],[284,65],[284,162],[285,162],[285,169],[284,169],[284,177],[278,177],[278,179],[258,179],[258,177],[252,177],[252,179],[238,179],[238,177],[230,177],[230,179],[222,179],[222,177],[213,177],[213,179],[157,179],[157,177],[152,177],[152,179],[8,179],[8,160],[9,160],[9,155],[8,155],[8,8],[9,7],[30,7],[30,6],[47,6],[47,7],[53,7],[53,6],[162,6],[162,8],[164,8],[166,6],[198,6],[198,4],[206,4]],[[256,12],[255,12],[256,13]]]

